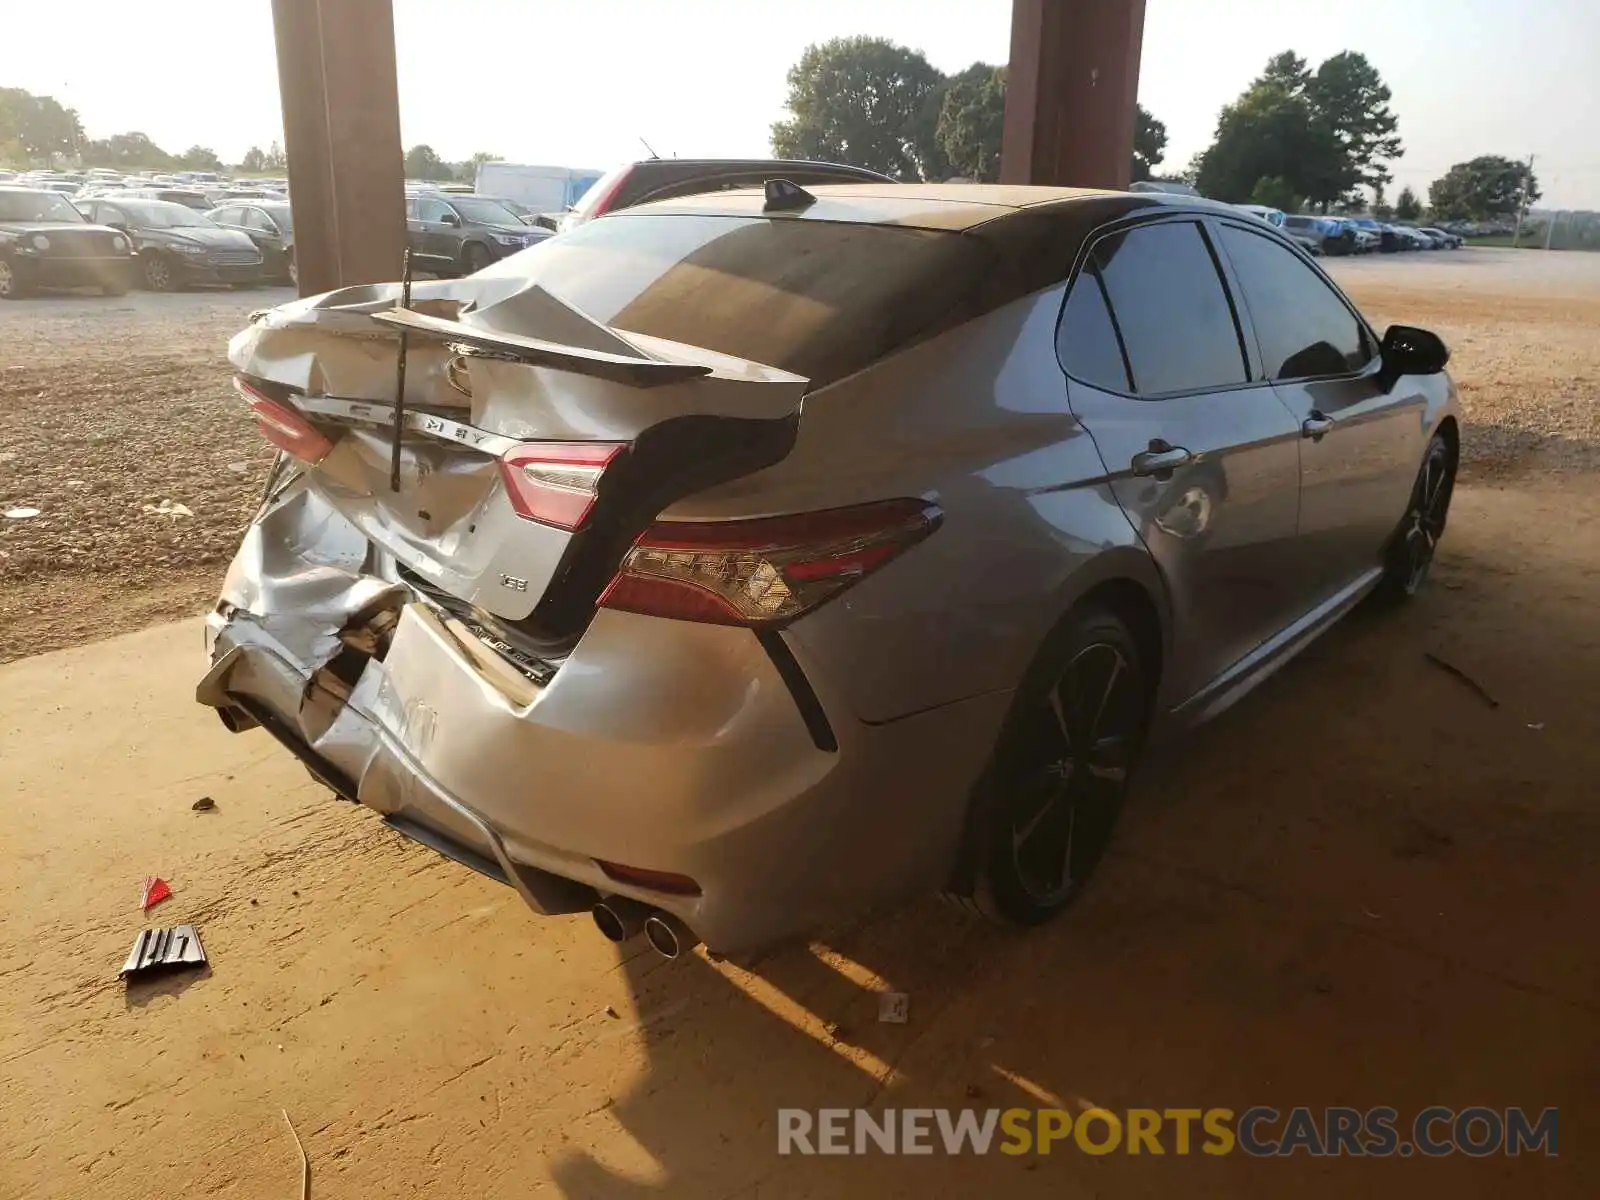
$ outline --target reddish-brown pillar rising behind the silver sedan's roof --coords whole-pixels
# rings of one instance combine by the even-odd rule
[[[1011,0],[1000,181],[1126,187],[1144,0]]]

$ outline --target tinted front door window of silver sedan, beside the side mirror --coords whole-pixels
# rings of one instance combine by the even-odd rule
[[[1362,323],[1291,251],[1232,226],[1222,227],[1222,245],[1245,291],[1267,378],[1344,374],[1373,357]]]

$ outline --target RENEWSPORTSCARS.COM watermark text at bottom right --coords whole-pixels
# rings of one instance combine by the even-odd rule
[[[1557,1154],[1558,1109],[779,1109],[778,1154],[1246,1154],[1443,1158]]]

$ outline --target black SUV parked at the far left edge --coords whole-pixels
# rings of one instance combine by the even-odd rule
[[[99,288],[122,296],[134,275],[126,234],[90,224],[54,190],[0,186],[0,301],[34,288]]]

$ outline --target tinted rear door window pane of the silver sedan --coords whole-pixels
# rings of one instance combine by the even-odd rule
[[[1094,243],[1142,395],[1245,382],[1245,355],[1200,226],[1146,226]]]

